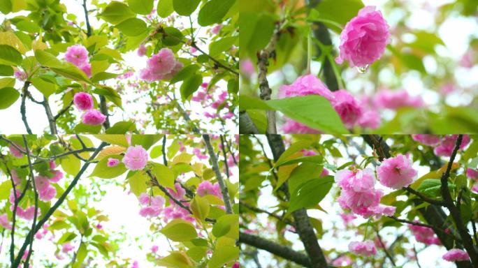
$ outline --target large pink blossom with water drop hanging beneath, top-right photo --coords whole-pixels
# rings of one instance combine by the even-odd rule
[[[351,67],[365,67],[382,57],[389,43],[389,25],[375,6],[365,6],[345,25],[340,34],[338,64],[349,61]]]

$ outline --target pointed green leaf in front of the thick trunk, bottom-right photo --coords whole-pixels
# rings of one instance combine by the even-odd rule
[[[298,209],[315,207],[325,198],[328,191],[331,190],[332,184],[332,176],[312,179],[305,184],[302,184],[291,194],[291,201],[289,203],[287,214],[289,215]]]

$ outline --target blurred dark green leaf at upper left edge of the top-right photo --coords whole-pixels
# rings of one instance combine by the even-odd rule
[[[274,33],[274,17],[267,14],[242,12],[239,16],[239,47],[252,57],[269,43]]]

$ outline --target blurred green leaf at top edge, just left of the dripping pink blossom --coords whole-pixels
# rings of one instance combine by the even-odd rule
[[[359,10],[363,8],[361,0],[342,0],[340,5],[334,0],[322,0],[317,5],[315,10],[319,12],[318,17],[324,20],[331,20],[342,27],[359,14]],[[325,22],[326,26],[335,32],[340,33],[342,29],[335,26],[335,24]]]

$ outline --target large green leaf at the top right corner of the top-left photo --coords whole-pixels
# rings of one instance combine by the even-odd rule
[[[199,10],[198,24],[208,26],[221,22],[236,0],[210,0]]]

